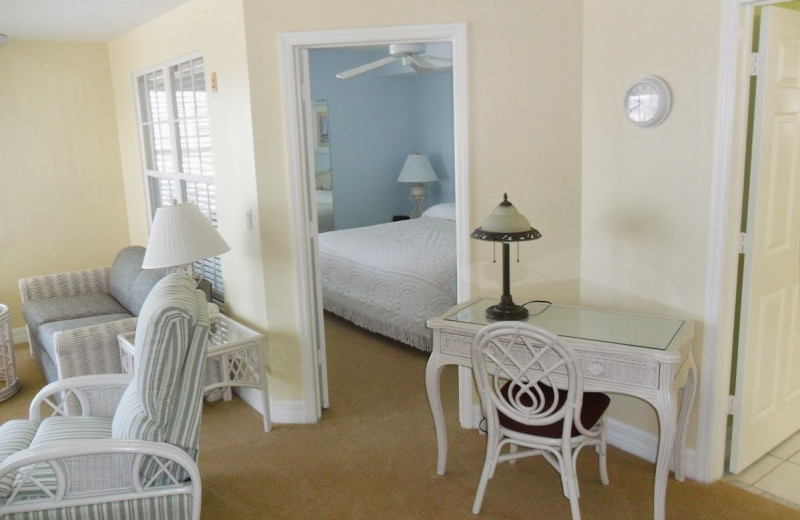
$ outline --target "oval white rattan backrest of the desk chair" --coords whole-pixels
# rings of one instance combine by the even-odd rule
[[[526,426],[563,419],[557,435],[565,438],[580,424],[580,362],[555,334],[519,321],[487,325],[472,344],[472,369],[490,428],[498,426],[498,411]]]

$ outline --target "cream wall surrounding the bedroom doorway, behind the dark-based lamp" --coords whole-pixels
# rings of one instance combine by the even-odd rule
[[[286,136],[278,38],[294,31],[466,22],[471,221],[504,191],[545,238],[514,264],[520,298],[577,300],[580,241],[581,5],[579,1],[245,0],[262,254],[270,341],[299,348],[295,323]],[[544,72],[546,71],[546,72]],[[391,100],[387,100],[391,102]],[[472,248],[473,294],[499,294],[491,246]],[[274,338],[278,331],[280,336]],[[299,394],[298,394],[299,397]],[[336,396],[331,396],[335,402]]]

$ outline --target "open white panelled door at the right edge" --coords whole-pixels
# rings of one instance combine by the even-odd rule
[[[800,12],[761,11],[730,471],[800,429]]]

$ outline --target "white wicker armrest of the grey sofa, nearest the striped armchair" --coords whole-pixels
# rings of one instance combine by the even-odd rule
[[[134,332],[137,319],[126,318],[56,332],[53,335],[53,363],[58,369],[58,378],[122,372],[117,335]]]

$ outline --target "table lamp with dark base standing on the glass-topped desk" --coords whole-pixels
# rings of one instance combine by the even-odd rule
[[[503,202],[492,214],[486,217],[481,227],[470,234],[471,238],[503,243],[503,295],[500,303],[486,309],[486,318],[495,321],[524,320],[528,317],[528,309],[514,303],[509,290],[508,246],[512,242],[536,240],[542,234],[532,228],[528,219],[520,215],[517,208],[508,201],[508,194],[503,194]],[[519,244],[517,245],[519,247]]]

